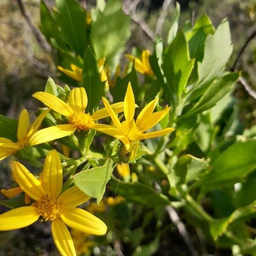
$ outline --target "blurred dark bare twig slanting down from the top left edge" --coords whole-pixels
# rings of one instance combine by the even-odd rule
[[[43,35],[41,34],[41,32],[39,31],[39,29],[37,29],[35,27],[35,25],[32,22],[32,19],[29,17],[28,13],[26,12],[25,6],[23,4],[23,0],[17,0],[18,6],[20,8],[20,12],[23,15],[23,17],[25,18],[26,22],[28,23],[29,27],[32,29],[33,34],[35,35],[36,40],[38,41],[38,44],[41,45],[41,47],[46,51],[46,52],[50,52],[51,51],[51,47],[49,47],[49,45],[47,44],[47,42],[44,40]]]

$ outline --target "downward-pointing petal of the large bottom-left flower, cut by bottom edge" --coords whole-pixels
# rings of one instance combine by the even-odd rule
[[[52,221],[52,236],[61,256],[76,256],[76,250],[70,233],[60,219]]]

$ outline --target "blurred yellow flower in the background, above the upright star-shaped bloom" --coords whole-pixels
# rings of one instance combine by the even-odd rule
[[[153,76],[154,73],[151,70],[150,63],[149,63],[149,56],[150,52],[149,50],[143,50],[141,55],[141,60],[139,58],[135,58],[134,56],[131,56],[129,54],[125,54],[125,57],[128,58],[131,61],[134,61],[135,69],[145,75]]]

